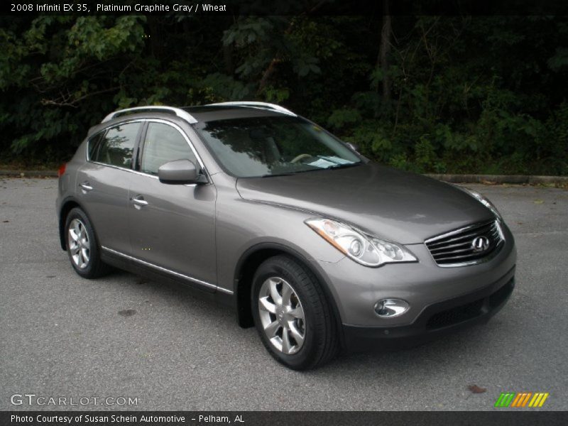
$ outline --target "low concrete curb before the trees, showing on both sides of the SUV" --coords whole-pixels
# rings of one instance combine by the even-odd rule
[[[436,175],[425,173],[430,178],[452,183],[516,183],[538,185],[542,183],[568,184],[568,176],[533,176],[533,175]],[[0,176],[20,178],[57,178],[56,170],[0,170]]]

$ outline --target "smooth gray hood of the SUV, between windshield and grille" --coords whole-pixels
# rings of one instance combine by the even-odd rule
[[[239,178],[245,200],[339,219],[401,244],[493,218],[456,187],[376,163],[269,178]]]

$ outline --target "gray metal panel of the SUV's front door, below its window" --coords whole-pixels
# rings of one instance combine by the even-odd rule
[[[131,256],[215,283],[214,185],[166,185],[154,176],[131,180],[129,204]]]

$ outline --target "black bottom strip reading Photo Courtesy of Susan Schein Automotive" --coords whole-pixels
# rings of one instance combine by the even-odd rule
[[[3,411],[2,426],[398,426],[398,425],[566,425],[566,412],[496,409],[493,412],[330,411]]]

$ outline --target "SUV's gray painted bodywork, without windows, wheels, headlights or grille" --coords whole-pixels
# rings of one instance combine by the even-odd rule
[[[245,108],[235,110],[241,116],[247,113]],[[254,109],[249,114],[275,113]],[[515,265],[515,244],[506,226],[505,244],[490,261],[461,268],[436,265],[425,239],[493,217],[452,185],[374,163],[237,179],[224,172],[187,122],[169,114],[133,114],[128,119],[160,119],[178,126],[199,153],[208,183],[166,185],[143,173],[87,162],[85,140],[60,180],[58,212],[68,200],[79,202],[102,246],[202,280],[209,291],[236,293],[236,269],[245,253],[272,244],[296,253],[317,272],[344,324],[400,325],[413,322],[427,305],[498,281]],[[95,126],[89,135],[125,120]],[[78,186],[83,181],[93,190],[84,193]],[[144,197],[151,207],[136,209],[129,202],[133,196]],[[361,266],[305,225],[305,219],[315,216],[337,218],[406,244],[419,261]],[[403,298],[410,310],[381,319],[373,305],[383,297]]]

